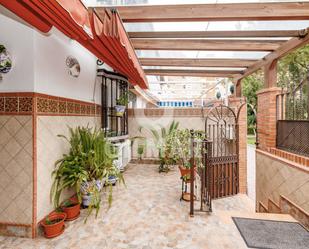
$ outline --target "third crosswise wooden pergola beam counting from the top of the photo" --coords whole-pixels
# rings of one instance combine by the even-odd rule
[[[274,51],[281,40],[131,39],[138,50]]]

